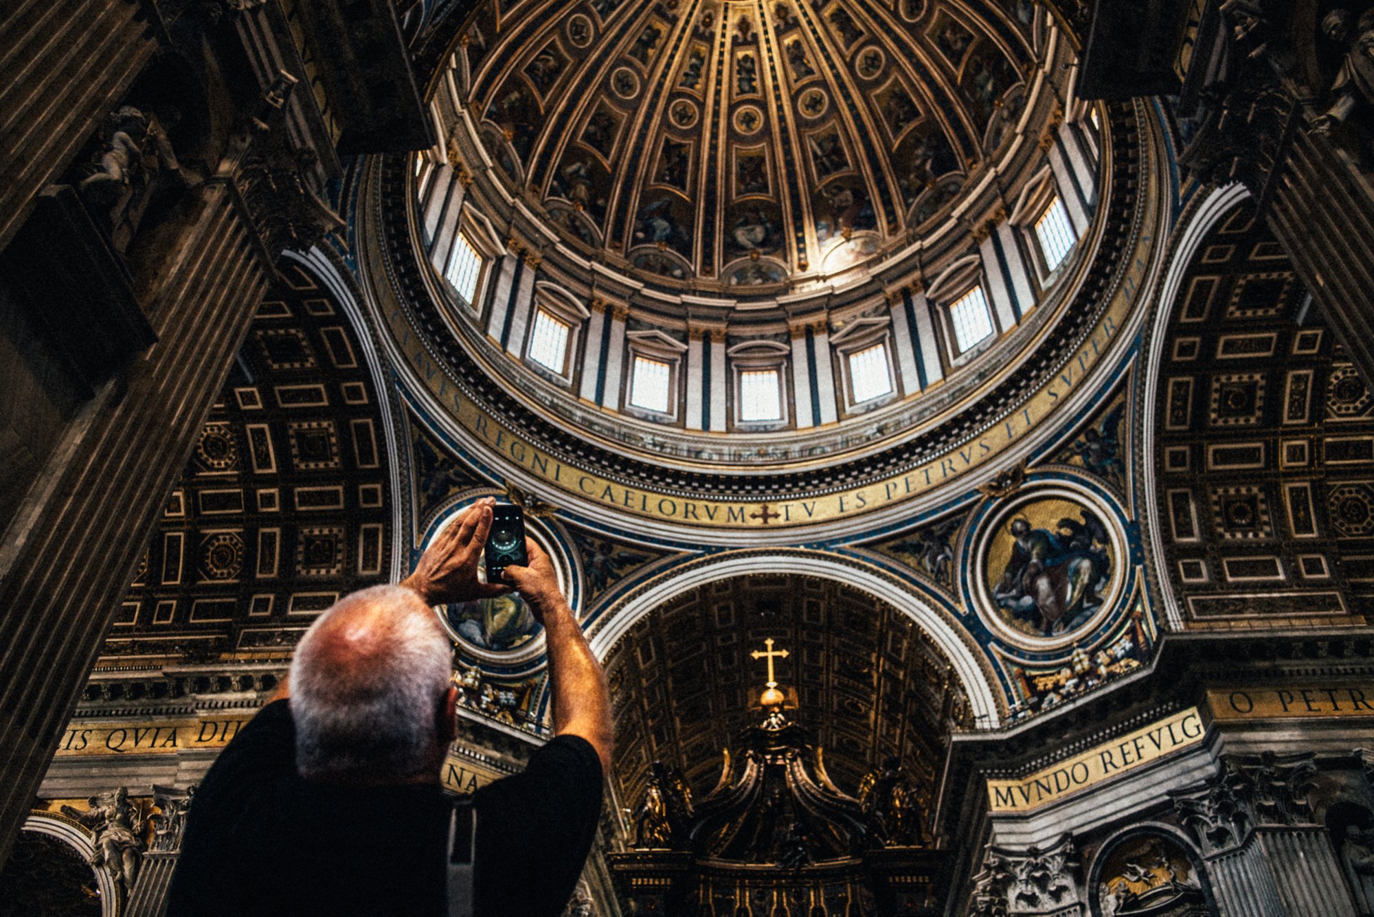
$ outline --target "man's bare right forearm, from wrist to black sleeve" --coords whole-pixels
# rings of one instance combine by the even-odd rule
[[[554,690],[554,732],[581,736],[592,744],[610,771],[614,729],[606,673],[592,655],[567,603],[544,611],[548,677]]]

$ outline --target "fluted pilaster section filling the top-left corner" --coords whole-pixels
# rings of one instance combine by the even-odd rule
[[[137,0],[11,0],[0,16],[0,248],[157,48]]]

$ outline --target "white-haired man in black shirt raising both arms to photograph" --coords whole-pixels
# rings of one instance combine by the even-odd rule
[[[220,754],[187,820],[169,917],[448,913],[456,734],[451,645],[433,605],[510,590],[477,578],[492,502],[470,507],[397,586],[344,597],[287,682]],[[555,916],[600,814],[610,700],[548,556],[506,577],[544,625],[554,732],[523,773],[477,792],[478,917]]]

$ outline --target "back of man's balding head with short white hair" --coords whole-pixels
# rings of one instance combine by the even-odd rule
[[[327,634],[348,630],[357,659]],[[333,625],[341,625],[334,626]],[[434,766],[438,703],[452,647],[434,614],[403,586],[372,586],[334,604],[305,631],[291,659],[295,769],[323,780],[392,780]]]

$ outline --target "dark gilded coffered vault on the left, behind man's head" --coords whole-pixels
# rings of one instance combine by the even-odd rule
[[[386,395],[338,298],[298,265],[283,277],[172,490],[100,667],[284,659],[319,612],[392,572]]]

